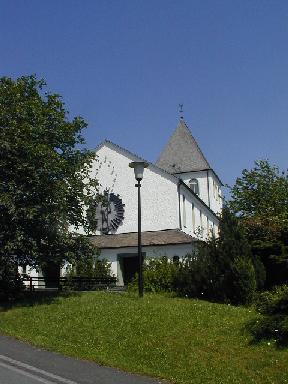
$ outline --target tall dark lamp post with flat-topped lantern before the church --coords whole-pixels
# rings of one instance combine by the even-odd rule
[[[148,163],[144,161],[133,161],[129,164],[130,168],[134,168],[135,179],[137,184],[135,187],[138,188],[138,260],[139,260],[139,271],[138,271],[138,291],[139,297],[143,297],[143,278],[142,278],[142,269],[143,269],[143,258],[142,258],[142,245],[141,245],[141,180],[143,179],[144,168],[148,167]]]

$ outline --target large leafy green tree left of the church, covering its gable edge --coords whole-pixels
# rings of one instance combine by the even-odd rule
[[[39,266],[91,250],[84,208],[97,197],[93,153],[82,149],[81,117],[35,76],[0,79],[0,257]]]

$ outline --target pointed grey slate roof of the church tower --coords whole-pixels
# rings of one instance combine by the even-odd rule
[[[156,165],[169,173],[211,169],[183,119],[180,119]]]

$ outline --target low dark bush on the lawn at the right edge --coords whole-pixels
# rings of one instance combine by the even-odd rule
[[[288,345],[288,286],[263,292],[256,307],[262,317],[249,325],[254,337],[257,340],[272,339],[281,345]]]

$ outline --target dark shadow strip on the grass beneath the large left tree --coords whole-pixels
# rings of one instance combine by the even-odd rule
[[[59,298],[69,298],[80,296],[80,292],[67,291],[67,292],[23,292],[21,297],[0,302],[0,312],[8,311],[15,307],[33,307],[34,305],[53,304]]]

